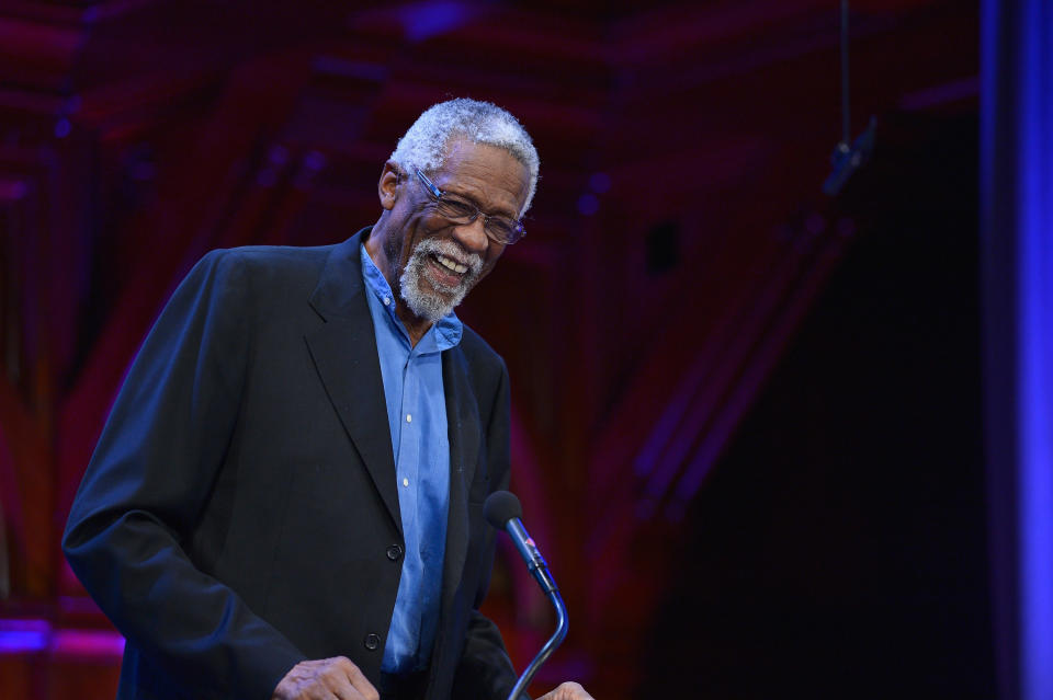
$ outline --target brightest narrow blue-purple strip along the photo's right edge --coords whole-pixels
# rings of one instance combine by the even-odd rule
[[[1053,698],[1053,7],[1020,12],[1020,685],[1040,700]]]

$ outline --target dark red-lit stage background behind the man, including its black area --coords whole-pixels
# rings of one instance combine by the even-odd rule
[[[450,96],[542,158],[462,318],[571,631],[533,690],[992,698],[978,8],[818,0],[0,7],[0,697],[112,697],[58,541],[127,363],[206,251],[331,243]],[[553,620],[502,546],[517,667]]]

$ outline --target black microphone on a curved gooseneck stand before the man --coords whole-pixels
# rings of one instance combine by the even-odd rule
[[[541,589],[545,592],[548,600],[556,609],[556,631],[553,632],[548,641],[545,642],[545,645],[541,647],[541,651],[534,656],[534,661],[530,662],[530,665],[523,670],[523,674],[516,682],[516,687],[508,693],[508,700],[519,700],[520,695],[526,690],[526,686],[530,685],[531,679],[534,677],[534,674],[537,673],[537,669],[541,668],[541,665],[552,656],[552,653],[556,651],[556,647],[559,646],[567,636],[567,629],[569,628],[567,622],[567,606],[563,603],[563,597],[559,595],[559,588],[556,586],[555,579],[552,577],[552,574],[548,573],[548,564],[541,555],[541,552],[537,551],[537,546],[534,543],[533,538],[528,535],[526,528],[523,527],[523,523],[520,519],[522,515],[523,506],[520,505],[516,494],[509,491],[495,491],[487,496],[486,503],[483,504],[483,517],[485,517],[486,521],[495,529],[505,530],[512,538],[512,543],[516,544],[516,549],[519,550],[519,555],[526,562],[526,569],[530,570],[534,581],[536,581]]]

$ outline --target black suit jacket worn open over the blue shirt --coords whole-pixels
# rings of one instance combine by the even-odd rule
[[[305,658],[376,685],[405,547],[359,246],[214,251],[133,364],[64,537],[126,636],[118,698],[267,700]],[[428,698],[503,698],[477,607],[483,501],[509,479],[508,374],[469,329],[442,354],[450,515]]]

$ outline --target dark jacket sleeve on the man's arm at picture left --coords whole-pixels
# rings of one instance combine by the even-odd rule
[[[132,365],[63,549],[116,628],[195,697],[268,699],[304,655],[184,544],[235,431],[251,351],[244,264],[206,255]]]

